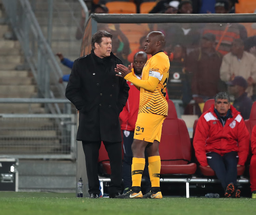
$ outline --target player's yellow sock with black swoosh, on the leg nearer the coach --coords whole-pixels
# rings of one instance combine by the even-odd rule
[[[141,177],[145,167],[145,158],[132,158],[131,180],[132,187],[141,186]]]

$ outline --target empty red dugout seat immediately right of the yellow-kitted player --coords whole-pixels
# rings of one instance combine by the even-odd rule
[[[194,174],[196,164],[190,163],[191,143],[186,124],[177,118],[174,103],[168,100],[168,116],[163,121],[159,154],[160,174]]]

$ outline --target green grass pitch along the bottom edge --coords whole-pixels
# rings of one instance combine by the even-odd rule
[[[0,214],[12,215],[255,215],[256,199],[89,199],[74,193],[0,192]]]

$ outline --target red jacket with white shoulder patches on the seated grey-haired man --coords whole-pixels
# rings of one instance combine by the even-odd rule
[[[208,166],[206,153],[216,152],[223,156],[228,152],[238,152],[238,164],[243,166],[249,153],[250,134],[243,117],[230,105],[232,118],[226,120],[225,126],[214,112],[214,104],[203,113],[197,123],[193,145],[198,162]]]

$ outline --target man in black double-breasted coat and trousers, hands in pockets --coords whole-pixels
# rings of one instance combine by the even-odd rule
[[[111,52],[111,38],[103,30],[93,35],[91,54],[74,61],[66,88],[66,97],[80,112],[76,139],[83,143],[91,198],[100,193],[97,168],[101,141],[111,163],[110,197],[122,190],[119,113],[126,104],[129,86],[115,75],[114,68],[122,61]]]

